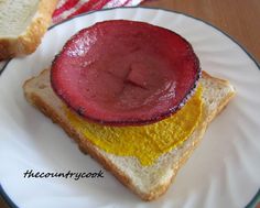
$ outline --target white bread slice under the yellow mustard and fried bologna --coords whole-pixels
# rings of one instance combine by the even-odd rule
[[[64,102],[53,92],[50,69],[25,81],[23,89],[29,102],[58,123],[79,145],[110,171],[123,185],[144,200],[152,200],[166,191],[180,167],[198,145],[207,124],[220,112],[235,95],[234,87],[226,80],[203,73],[203,119],[192,135],[178,147],[162,155],[155,164],[142,166],[130,156],[117,156],[95,146],[82,132],[77,132],[64,112]]]

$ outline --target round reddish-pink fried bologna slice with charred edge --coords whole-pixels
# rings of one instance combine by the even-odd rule
[[[75,34],[56,56],[54,91],[78,114],[111,125],[148,124],[178,110],[201,76],[178,34],[144,22],[112,20]]]

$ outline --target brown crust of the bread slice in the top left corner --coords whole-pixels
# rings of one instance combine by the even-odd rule
[[[40,0],[37,11],[26,30],[18,37],[0,39],[0,61],[33,53],[52,21],[52,13],[58,0]]]

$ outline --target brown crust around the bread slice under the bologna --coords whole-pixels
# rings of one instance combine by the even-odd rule
[[[41,73],[41,75],[44,73],[47,73],[47,69],[43,70]],[[203,72],[203,77],[205,77],[207,79],[213,79],[214,81],[220,83],[221,85],[230,86],[230,84],[228,81],[212,77],[210,75],[206,74],[205,72]],[[51,118],[53,120],[53,122],[61,125],[65,130],[65,132],[72,139],[75,140],[75,142],[78,144],[82,152],[88,153],[90,156],[93,156],[95,160],[97,160],[106,169],[110,171],[118,178],[119,182],[121,182],[124,186],[130,188],[133,193],[136,193],[143,200],[147,200],[147,201],[156,199],[158,197],[160,197],[161,195],[163,195],[167,190],[169,186],[172,184],[175,176],[177,175],[177,171],[185,164],[185,162],[188,160],[188,157],[191,156],[193,151],[198,146],[198,144],[202,141],[202,138],[206,131],[208,123],[224,109],[224,107],[228,103],[228,101],[235,96],[235,91],[230,91],[228,94],[228,96],[225,97],[225,99],[218,106],[218,108],[215,109],[215,111],[209,114],[209,117],[208,117],[208,114],[206,116],[206,113],[204,112],[204,114],[202,117],[202,121],[199,122],[199,127],[198,127],[199,132],[198,132],[198,135],[196,136],[196,140],[192,143],[192,146],[187,151],[185,151],[185,154],[182,155],[182,157],[177,162],[177,164],[175,164],[175,163],[172,164],[171,168],[174,171],[173,172],[174,174],[172,174],[171,179],[169,179],[166,183],[164,183],[160,186],[156,186],[150,193],[143,193],[143,191],[137,189],[137,186],[134,186],[131,178],[126,176],[126,174],[122,173],[113,163],[111,163],[107,157],[105,157],[98,151],[98,147],[96,147],[89,140],[86,140],[86,138],[83,134],[80,134],[80,132],[76,132],[75,129],[73,129],[68,122],[65,122],[63,119],[61,119],[58,113],[48,106],[46,100],[42,99],[36,94],[26,90],[26,88],[29,88],[28,85],[30,85],[30,83],[33,79],[34,79],[34,77],[26,80],[23,85],[24,95],[26,97],[26,100],[30,103],[32,103],[33,106],[35,106],[36,108],[39,108],[45,116]]]

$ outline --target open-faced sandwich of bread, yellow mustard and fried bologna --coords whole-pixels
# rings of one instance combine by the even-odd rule
[[[235,96],[192,45],[144,22],[96,23],[23,85],[26,100],[143,200],[162,196]]]

